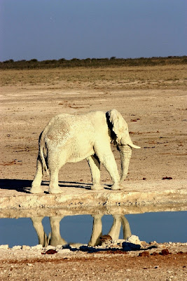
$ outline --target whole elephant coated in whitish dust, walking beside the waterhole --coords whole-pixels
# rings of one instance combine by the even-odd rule
[[[111,151],[111,142],[120,151],[121,175]],[[60,193],[58,173],[67,162],[87,159],[92,174],[92,190],[100,185],[100,164],[109,172],[112,190],[120,189],[127,176],[132,148],[139,148],[130,139],[128,126],[117,110],[88,112],[81,115],[61,114],[53,117],[39,137],[36,176],[31,193],[41,193],[44,171],[50,171],[49,193]]]

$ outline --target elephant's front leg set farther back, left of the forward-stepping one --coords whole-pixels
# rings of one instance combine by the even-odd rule
[[[103,187],[100,185],[100,162],[96,155],[92,155],[86,158],[90,166],[90,171],[92,175],[91,190],[101,190]]]

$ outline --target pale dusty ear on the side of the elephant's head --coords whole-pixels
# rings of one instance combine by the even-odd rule
[[[116,144],[121,144],[122,133],[124,131],[124,119],[120,115],[120,112],[118,112],[117,110],[109,111],[108,115],[109,115],[109,121],[112,124],[111,129],[116,135],[114,141]]]

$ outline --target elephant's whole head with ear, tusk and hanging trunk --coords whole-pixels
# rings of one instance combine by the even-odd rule
[[[127,122],[120,115],[117,110],[111,110],[106,112],[106,119],[108,122],[109,129],[111,131],[111,138],[114,144],[120,151],[121,159],[121,175],[120,181],[123,181],[128,172],[128,167],[130,163],[130,157],[132,155],[132,148],[140,148],[134,145],[131,141]]]

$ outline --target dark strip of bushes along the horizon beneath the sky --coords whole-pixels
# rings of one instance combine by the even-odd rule
[[[187,56],[168,56],[153,58],[86,58],[71,60],[6,60],[0,62],[0,70],[32,70],[48,69],[57,67],[121,67],[121,66],[151,66],[151,65],[184,65],[187,63]]]

